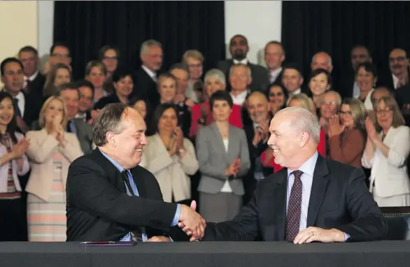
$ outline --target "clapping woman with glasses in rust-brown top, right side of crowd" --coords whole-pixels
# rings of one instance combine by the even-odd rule
[[[359,99],[348,98],[341,104],[339,115],[329,120],[329,158],[362,168],[365,150],[365,104]]]

